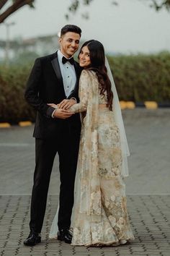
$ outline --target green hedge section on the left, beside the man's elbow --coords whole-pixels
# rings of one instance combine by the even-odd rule
[[[24,100],[31,67],[0,67],[0,121],[35,120],[35,111]]]

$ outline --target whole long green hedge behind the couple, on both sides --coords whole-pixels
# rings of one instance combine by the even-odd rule
[[[124,101],[170,102],[170,53],[108,56],[117,93]],[[0,121],[35,120],[35,111],[24,101],[31,65],[0,66]]]

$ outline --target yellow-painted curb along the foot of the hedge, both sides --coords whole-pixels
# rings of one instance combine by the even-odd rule
[[[157,109],[157,108],[170,108],[170,103],[157,103],[156,101],[144,101],[143,102],[133,102],[133,101],[120,101],[121,109],[134,109],[134,108],[147,108],[147,109]],[[31,121],[19,121],[20,127],[28,127],[32,125]],[[4,122],[0,123],[1,128],[9,128],[11,124]]]

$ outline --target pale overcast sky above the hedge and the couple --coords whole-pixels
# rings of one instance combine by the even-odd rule
[[[53,35],[68,23],[81,27],[84,40],[97,39],[106,51],[122,54],[170,51],[170,12],[156,12],[146,0],[94,0],[89,7],[81,6],[76,15],[67,21],[64,14],[68,0],[36,0],[35,9],[23,7],[6,22],[11,26],[10,38],[31,38]],[[89,12],[89,20],[81,18]],[[5,25],[0,25],[0,39],[6,38]]]

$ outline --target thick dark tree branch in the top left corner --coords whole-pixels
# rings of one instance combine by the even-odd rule
[[[4,22],[9,15],[24,7],[26,4],[34,8],[34,1],[35,0],[0,0],[0,23]]]

